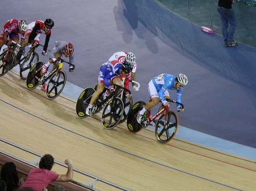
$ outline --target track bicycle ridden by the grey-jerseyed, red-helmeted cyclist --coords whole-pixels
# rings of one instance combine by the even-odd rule
[[[38,61],[31,67],[29,74],[27,74],[27,88],[32,90],[38,85],[44,85],[45,81],[49,80],[46,88],[46,96],[48,99],[57,98],[66,84],[66,73],[62,70],[63,63],[67,63],[73,66],[74,64],[67,62],[59,58],[58,67],[51,71],[49,74],[42,74],[42,66],[44,62]]]

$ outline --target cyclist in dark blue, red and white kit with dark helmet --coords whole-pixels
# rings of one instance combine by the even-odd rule
[[[121,78],[126,77],[126,75],[128,75],[130,72],[131,64],[128,62],[122,63],[118,60],[113,60],[109,63],[102,64],[101,68],[99,69],[98,87],[97,90],[93,93],[91,101],[86,108],[86,114],[91,116],[93,104],[99,95],[104,91],[105,86],[109,88],[109,92],[106,92],[104,97],[108,96],[108,93],[114,90],[111,84],[121,85]],[[109,81],[111,81],[111,83]],[[128,83],[125,83],[126,89],[127,85],[129,85],[129,81]]]

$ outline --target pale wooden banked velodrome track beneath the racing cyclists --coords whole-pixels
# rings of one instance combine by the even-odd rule
[[[255,161],[174,138],[157,142],[151,129],[132,134],[126,124],[107,130],[100,116],[80,119],[76,101],[48,100],[26,89],[12,71],[0,78],[1,138],[129,190],[255,190]],[[0,142],[3,152],[26,161],[34,156]],[[65,169],[57,169],[65,173]],[[86,183],[88,177],[74,174]],[[95,182],[98,190],[118,190]]]

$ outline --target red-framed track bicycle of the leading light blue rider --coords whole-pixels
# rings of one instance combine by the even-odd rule
[[[149,102],[151,101],[152,99],[150,98]],[[173,99],[166,99],[166,101],[169,103],[178,103],[182,106],[182,109],[184,108],[182,103],[176,102]],[[151,109],[148,109],[143,115],[141,124],[139,124],[137,122],[137,115],[144,106],[145,102],[143,101],[134,103],[127,117],[127,128],[129,131],[137,133],[142,128],[146,128],[148,125],[153,125],[151,122],[154,122],[155,125],[153,126],[155,126],[155,137],[157,140],[161,143],[169,142],[175,136],[179,126],[179,118],[177,114],[174,111],[169,110],[169,104],[167,106],[163,106],[162,109],[152,117]]]

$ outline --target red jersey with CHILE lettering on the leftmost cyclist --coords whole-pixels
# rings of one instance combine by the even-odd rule
[[[19,21],[16,19],[10,19],[5,23],[5,26],[3,26],[1,34],[0,34],[0,39],[3,39],[3,34],[5,32],[8,33],[9,37],[12,38],[14,36],[19,37]]]

